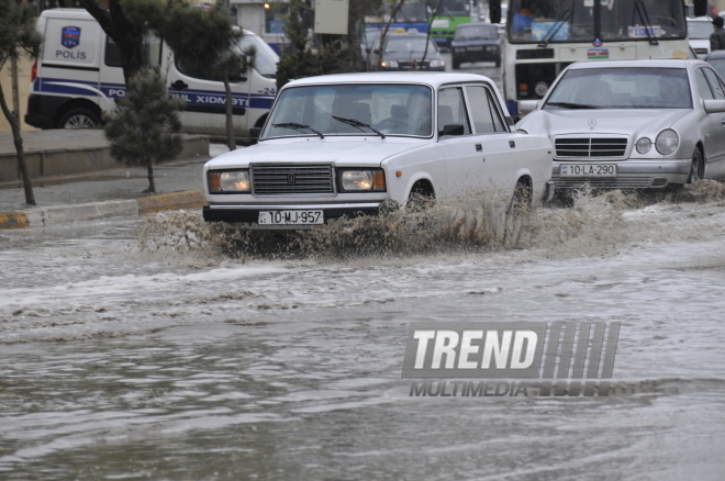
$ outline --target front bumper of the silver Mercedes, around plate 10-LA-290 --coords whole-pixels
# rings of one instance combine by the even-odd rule
[[[616,165],[616,177],[561,177],[562,164]],[[555,160],[551,180],[557,189],[578,189],[584,184],[601,189],[661,189],[670,183],[685,183],[691,159],[651,160]]]

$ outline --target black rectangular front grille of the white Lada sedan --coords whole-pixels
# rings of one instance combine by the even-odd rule
[[[255,195],[334,193],[332,166],[253,166]]]

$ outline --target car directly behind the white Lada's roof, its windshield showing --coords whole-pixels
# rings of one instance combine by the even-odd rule
[[[425,44],[427,42],[427,52]],[[380,54],[380,36],[372,42],[368,54],[368,70],[376,70]],[[423,56],[425,55],[425,58]],[[382,47],[380,69],[395,70],[434,70],[444,71],[446,63],[435,43],[426,34],[414,32],[394,32],[386,35]]]

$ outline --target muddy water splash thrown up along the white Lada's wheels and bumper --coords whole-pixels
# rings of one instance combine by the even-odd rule
[[[146,217],[144,253],[176,253],[197,259],[404,257],[536,248],[554,255],[611,246],[626,239],[618,191],[580,197],[572,209],[511,210],[506,202],[469,195],[436,202],[420,212],[390,209],[370,217],[339,219],[308,231],[249,231],[209,224],[197,212]],[[583,250],[582,250],[583,249]]]

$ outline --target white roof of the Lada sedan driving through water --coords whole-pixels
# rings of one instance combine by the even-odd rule
[[[292,80],[287,86],[310,86],[332,83],[425,83],[433,88],[445,83],[489,81],[477,74],[454,74],[447,71],[370,71],[364,74],[333,74]],[[285,86],[285,87],[287,87]]]

